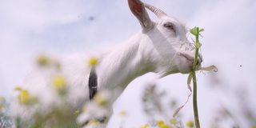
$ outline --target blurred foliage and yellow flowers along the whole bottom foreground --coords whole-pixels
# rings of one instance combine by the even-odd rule
[[[95,62],[92,61],[94,64]],[[96,62],[97,63],[97,62]],[[61,66],[55,59],[40,56],[38,57],[37,64],[40,68],[54,67],[61,71]],[[60,100],[58,104],[53,104],[46,108],[46,110],[34,110],[32,115],[28,118],[22,116],[15,116],[10,118],[9,104],[5,98],[0,97],[0,128],[9,128],[15,126],[17,128],[101,128],[105,127],[111,115],[112,106],[110,106],[111,94],[114,90],[101,90],[95,95],[94,99],[86,102],[81,108],[75,109],[66,98],[69,93],[66,78],[61,74],[54,75],[51,79],[51,86]],[[222,86],[219,86],[221,89]],[[18,86],[15,88],[18,92],[17,101],[19,106],[30,110],[34,106],[42,106],[40,98],[30,94],[29,90]],[[222,89],[221,89],[222,90]],[[222,106],[216,110],[212,117],[210,128],[255,128],[256,127],[256,114],[255,107],[251,107],[248,93],[246,89],[233,89],[230,90],[235,95],[235,99],[239,105],[237,111],[232,110],[230,106]],[[226,92],[224,92],[226,93]],[[163,102],[169,100],[168,105]],[[160,90],[156,85],[148,85],[142,92],[142,109],[148,118],[148,122],[138,126],[141,128],[192,128],[194,122],[187,120],[182,122],[182,111],[174,118],[172,113],[178,108],[179,101],[175,98],[166,98],[166,90]],[[170,112],[171,111],[171,112]],[[118,113],[122,122],[117,124],[119,127],[129,126],[126,124],[127,117],[126,110]],[[202,117],[203,118],[203,117]],[[205,127],[205,126],[204,126]]]

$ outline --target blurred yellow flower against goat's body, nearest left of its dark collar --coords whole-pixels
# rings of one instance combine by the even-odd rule
[[[66,81],[62,76],[56,76],[53,81],[53,86],[58,90],[59,94],[66,94]]]

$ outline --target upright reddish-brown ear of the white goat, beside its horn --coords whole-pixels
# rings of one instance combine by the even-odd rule
[[[143,29],[149,29],[154,23],[150,20],[147,14],[144,3],[140,0],[128,0],[131,12],[138,18]]]

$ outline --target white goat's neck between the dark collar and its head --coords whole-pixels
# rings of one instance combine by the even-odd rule
[[[120,93],[134,78],[151,71],[150,64],[139,52],[140,36],[104,55],[97,67],[98,85],[104,89],[119,89]]]

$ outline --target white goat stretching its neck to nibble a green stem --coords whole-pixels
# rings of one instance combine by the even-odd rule
[[[95,72],[98,74],[98,90],[118,88],[118,94],[115,94],[114,99],[118,98],[134,78],[142,74],[154,72],[159,78],[174,73],[186,74],[192,70],[194,60],[194,46],[186,38],[187,30],[181,22],[139,0],[128,0],[128,4],[131,12],[138,18],[142,30],[110,53],[95,55],[98,58],[98,65],[95,67]],[[145,7],[158,16],[158,22],[150,20]],[[75,57],[61,63],[62,74],[70,85],[70,102],[74,106],[89,100],[90,67],[85,64],[88,60],[89,58],[86,57]],[[200,57],[198,65],[201,62]],[[40,71],[39,74],[42,72]],[[46,78],[34,76],[33,81],[26,82],[27,89],[31,94],[48,97],[42,101],[56,102],[54,96],[48,93],[51,91],[47,89],[49,88],[47,85],[51,82],[48,79],[52,75],[48,73],[46,75],[48,75]]]

